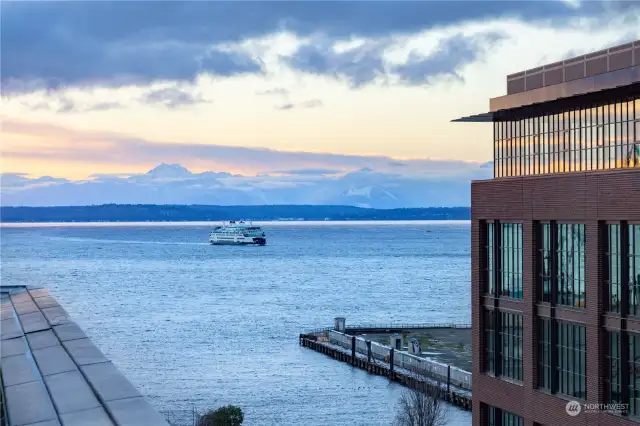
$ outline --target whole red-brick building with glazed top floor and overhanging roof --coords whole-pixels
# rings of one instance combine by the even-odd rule
[[[507,93],[454,120],[494,126],[471,187],[473,424],[639,425],[640,41]]]

